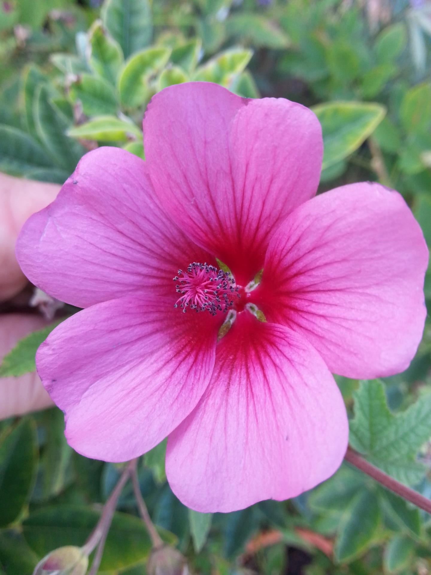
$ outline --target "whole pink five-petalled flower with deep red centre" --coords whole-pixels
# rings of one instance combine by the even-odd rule
[[[148,106],[144,144],[146,162],[84,156],[18,241],[32,282],[86,308],[37,353],[68,442],[125,461],[168,436],[168,481],[198,511],[296,496],[347,447],[330,371],[390,375],[415,354],[422,232],[376,183],[313,198],[320,124],[285,99],[172,86]]]

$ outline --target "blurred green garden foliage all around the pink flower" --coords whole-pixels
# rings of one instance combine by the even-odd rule
[[[205,80],[311,106],[324,133],[320,190],[363,180],[395,188],[431,244],[425,0],[0,1],[0,68],[5,173],[63,183],[98,145],[144,158],[141,122],[152,95]],[[430,305],[429,273],[426,298]],[[0,375],[34,369],[46,335],[18,344]],[[371,383],[337,378],[352,446],[428,497],[430,370],[428,321],[405,373]],[[153,522],[194,573],[431,573],[430,517],[346,464],[294,500],[210,515],[172,494],[164,448],[142,458],[140,486]],[[67,446],[57,409],[1,423],[0,574],[29,575],[55,547],[82,545],[119,473]],[[129,488],[118,509],[101,573],[144,575],[150,543]]]

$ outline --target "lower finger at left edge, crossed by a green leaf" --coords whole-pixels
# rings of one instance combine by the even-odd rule
[[[46,327],[47,323],[41,316],[24,313],[0,316],[0,363],[18,340],[32,331]],[[36,373],[0,378],[0,420],[39,411],[51,405],[52,400]]]

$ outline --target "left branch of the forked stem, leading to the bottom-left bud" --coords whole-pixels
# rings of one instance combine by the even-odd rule
[[[106,537],[111,525],[114,511],[117,507],[118,497],[120,497],[122,489],[130,477],[130,473],[132,473],[133,469],[136,469],[136,462],[137,459],[132,459],[122,471],[117,485],[114,487],[105,505],[103,505],[102,515],[100,516],[97,526],[94,528],[93,532],[82,548],[83,553],[89,555],[91,551],[93,551],[97,546],[97,551],[94,555],[93,563],[91,564],[91,569],[88,572],[88,575],[95,575],[99,569],[100,562],[102,561],[103,547],[105,547]]]

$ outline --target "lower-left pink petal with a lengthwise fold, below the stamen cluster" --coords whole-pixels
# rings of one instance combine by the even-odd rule
[[[171,298],[106,301],[64,321],[37,371],[66,413],[78,453],[126,461],[154,447],[195,407],[211,377],[220,320]]]

